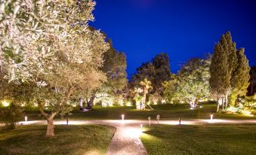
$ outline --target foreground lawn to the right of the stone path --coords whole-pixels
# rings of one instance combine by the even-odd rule
[[[152,155],[256,154],[256,126],[151,126],[140,139]]]

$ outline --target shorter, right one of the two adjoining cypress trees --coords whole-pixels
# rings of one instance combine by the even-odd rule
[[[245,96],[250,80],[250,67],[248,65],[248,59],[245,56],[245,49],[240,48],[237,52],[237,66],[233,71],[233,77],[231,79],[232,94],[230,96],[230,104],[235,105],[236,98],[238,96]]]

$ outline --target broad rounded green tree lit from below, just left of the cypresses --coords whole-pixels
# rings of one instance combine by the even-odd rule
[[[165,93],[173,91],[172,96],[175,100],[185,101],[191,108],[196,108],[199,99],[209,96],[210,63],[210,59],[190,59],[177,76],[173,77],[170,84],[165,84]]]

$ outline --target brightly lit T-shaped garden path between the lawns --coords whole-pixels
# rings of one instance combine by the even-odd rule
[[[34,120],[21,122],[23,124],[46,124],[45,120]],[[141,126],[148,125],[148,120],[69,120],[71,125],[83,124],[101,124],[116,127],[116,133],[109,144],[106,155],[147,155],[147,150],[140,141],[140,134],[143,132]],[[156,120],[151,121],[157,124]],[[160,120],[160,124],[177,125],[178,120]],[[181,120],[183,125],[203,125],[203,124],[240,124],[240,123],[256,123],[256,120]],[[65,120],[54,120],[54,124],[66,124]]]

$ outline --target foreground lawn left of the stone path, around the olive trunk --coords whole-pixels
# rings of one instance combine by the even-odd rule
[[[105,154],[116,131],[111,126],[55,126],[54,138],[46,138],[45,129],[46,126],[0,128],[0,154]]]

